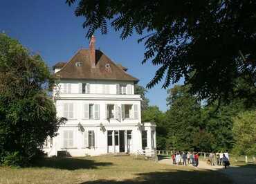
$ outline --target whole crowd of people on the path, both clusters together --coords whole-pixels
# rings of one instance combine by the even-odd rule
[[[225,168],[230,165],[228,151],[225,153],[220,152],[217,154],[210,153],[208,162],[210,165],[215,165],[215,155],[217,158],[217,165],[224,165]],[[174,165],[193,165],[197,167],[199,165],[199,153],[196,152],[175,152],[172,154],[172,164]]]

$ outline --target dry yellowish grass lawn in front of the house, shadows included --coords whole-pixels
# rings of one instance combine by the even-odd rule
[[[218,172],[132,156],[47,158],[35,167],[0,167],[0,183],[232,183]]]

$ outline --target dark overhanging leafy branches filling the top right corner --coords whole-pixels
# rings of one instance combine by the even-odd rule
[[[66,0],[69,6],[75,0]],[[160,68],[148,88],[165,77],[163,87],[185,78],[199,100],[229,100],[238,77],[255,88],[256,1],[95,1],[80,0],[86,37],[110,25],[126,39],[134,32],[145,44],[143,63]],[[245,77],[246,76],[246,77]],[[240,93],[248,98],[250,93]],[[254,95],[255,96],[255,95]]]

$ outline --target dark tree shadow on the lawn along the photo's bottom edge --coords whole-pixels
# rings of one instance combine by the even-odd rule
[[[231,184],[232,181],[227,176],[210,171],[182,171],[182,170],[164,170],[163,172],[149,172],[136,174],[135,178],[116,181],[116,180],[96,180],[86,181],[80,184],[180,184],[180,183],[207,183],[207,184]]]

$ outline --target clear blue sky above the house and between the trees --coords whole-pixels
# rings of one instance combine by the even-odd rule
[[[68,61],[80,48],[88,48],[86,29],[82,28],[82,17],[75,17],[75,6],[68,7],[65,0],[43,1],[1,1],[0,31],[18,39],[31,51],[42,55],[48,66],[59,61]],[[150,62],[141,64],[145,51],[138,44],[138,35],[122,40],[119,34],[109,29],[107,35],[95,33],[96,48],[100,48],[114,62],[129,68],[128,72],[140,79],[145,86],[159,66]],[[162,111],[166,107],[166,90],[161,83],[149,89],[150,105],[157,105]]]

